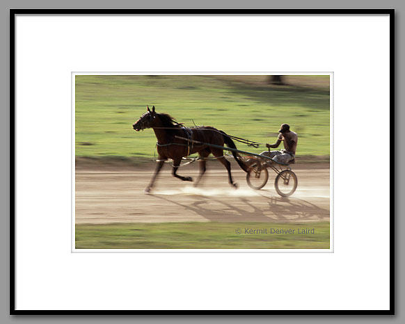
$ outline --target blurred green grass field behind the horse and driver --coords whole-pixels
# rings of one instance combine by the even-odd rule
[[[153,131],[132,129],[146,104],[186,126],[194,121],[260,143],[274,143],[287,122],[299,134],[297,154],[328,155],[329,76],[289,76],[289,86],[268,86],[264,78],[76,76],[76,156],[153,156]]]

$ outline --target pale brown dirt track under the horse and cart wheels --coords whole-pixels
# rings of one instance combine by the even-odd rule
[[[274,189],[272,170],[267,186],[253,191],[246,174],[233,163],[237,190],[229,186],[225,168],[207,165],[200,186],[194,188],[191,182],[173,178],[171,166],[165,165],[150,195],[143,189],[152,177],[151,168],[77,168],[76,223],[328,221],[328,165],[301,164],[292,169],[298,188],[283,198]],[[178,173],[196,178],[198,165],[186,165]]]

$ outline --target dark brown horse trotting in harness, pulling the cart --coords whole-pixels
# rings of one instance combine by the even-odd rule
[[[228,147],[232,149],[236,149],[235,143],[233,143],[232,139],[227,136],[226,133],[223,131],[219,131],[214,127],[193,127],[193,128],[186,128],[183,127],[182,124],[179,124],[170,117],[170,115],[166,113],[157,113],[154,110],[154,106],[152,107],[152,111],[150,111],[149,107],[147,108],[147,112],[141,115],[133,125],[136,131],[140,131],[141,129],[148,129],[152,128],[154,134],[157,138],[157,168],[154,171],[154,175],[148,187],[145,188],[145,193],[149,193],[150,189],[153,186],[154,180],[156,179],[159,171],[161,170],[164,162],[167,159],[173,160],[173,177],[182,179],[183,181],[193,181],[191,177],[182,177],[181,175],[177,175],[177,169],[179,168],[180,162],[184,156],[188,156],[193,153],[197,153],[200,156],[200,175],[196,181],[195,186],[198,185],[202,175],[206,170],[205,168],[205,159],[209,154],[213,154],[216,159],[218,159],[228,170],[228,178],[229,183],[234,187],[237,188],[237,184],[232,180],[232,175],[230,173],[230,162],[225,159],[223,156],[223,149],[210,147],[208,145],[197,145],[189,142],[188,140],[183,140],[178,137],[182,138],[189,138],[190,140],[197,140],[201,143],[208,143],[223,146],[224,144],[228,145]],[[232,152],[233,156],[235,157],[239,166],[245,172],[248,172],[246,165],[242,161],[239,160],[239,156],[237,153]]]

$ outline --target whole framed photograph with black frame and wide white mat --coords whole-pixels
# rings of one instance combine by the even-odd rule
[[[11,314],[393,314],[393,22],[10,10]]]

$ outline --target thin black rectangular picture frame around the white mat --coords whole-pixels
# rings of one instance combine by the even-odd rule
[[[15,309],[15,16],[16,15],[389,15],[390,124],[395,124],[394,9],[10,9],[10,315],[394,315],[395,160],[390,159],[390,309],[388,310],[18,310]],[[390,141],[395,152],[395,140]]]

